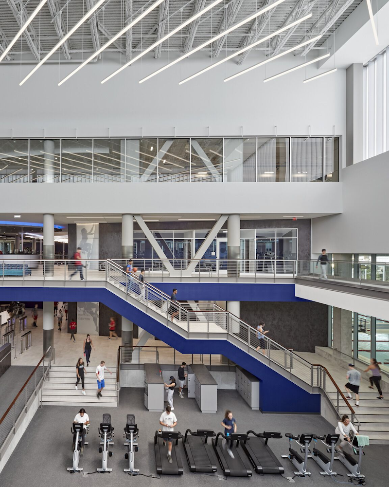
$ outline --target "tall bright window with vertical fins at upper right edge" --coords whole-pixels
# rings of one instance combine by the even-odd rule
[[[389,150],[389,47],[364,66],[363,158]]]

